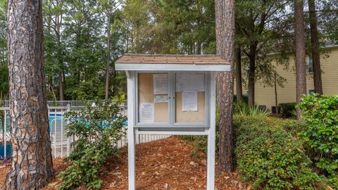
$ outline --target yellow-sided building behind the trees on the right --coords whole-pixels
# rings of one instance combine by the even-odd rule
[[[307,62],[309,59],[307,58]],[[323,93],[325,95],[338,94],[338,46],[325,48],[320,55],[322,69]],[[277,73],[284,77],[284,87],[277,84],[277,103],[296,102],[296,76],[294,70],[294,57],[289,59],[289,68],[277,65]],[[307,73],[306,89],[308,93],[314,91],[313,75]],[[244,92],[246,89],[244,89]],[[234,91],[236,93],[236,91]],[[259,106],[266,106],[271,110],[275,106],[275,87],[268,87],[261,82],[255,85],[255,103]]]

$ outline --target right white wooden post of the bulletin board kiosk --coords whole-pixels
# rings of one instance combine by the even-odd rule
[[[206,186],[215,189],[215,122],[216,122],[216,72],[211,72],[210,81],[210,128],[208,130],[208,159]]]

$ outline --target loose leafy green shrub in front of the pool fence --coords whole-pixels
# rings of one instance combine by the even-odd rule
[[[88,189],[100,189],[99,170],[108,156],[118,154],[114,144],[125,135],[123,125],[126,118],[118,115],[119,107],[109,101],[96,102],[96,107],[87,105],[84,110],[66,115],[70,121],[68,137],[77,141],[69,156],[71,165],[61,172],[60,189],[75,189],[85,185]]]

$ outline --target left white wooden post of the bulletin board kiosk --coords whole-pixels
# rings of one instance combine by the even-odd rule
[[[134,72],[127,75],[128,110],[128,189],[135,190],[135,138],[134,138]]]

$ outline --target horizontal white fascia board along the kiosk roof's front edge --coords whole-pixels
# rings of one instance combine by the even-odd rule
[[[230,65],[192,65],[192,64],[140,64],[140,63],[115,63],[115,70],[147,70],[147,71],[230,71]]]

